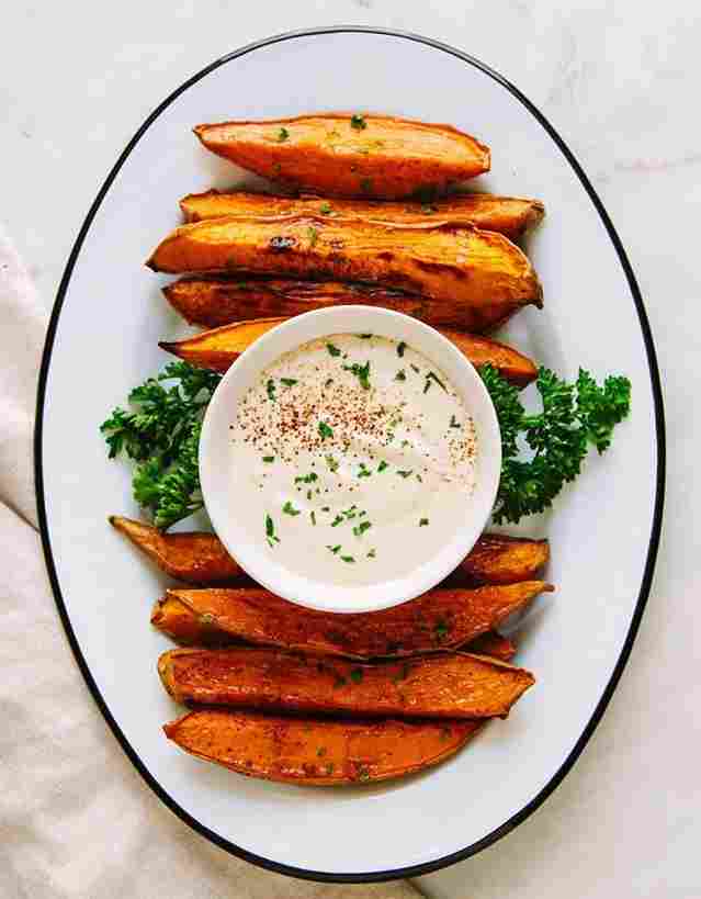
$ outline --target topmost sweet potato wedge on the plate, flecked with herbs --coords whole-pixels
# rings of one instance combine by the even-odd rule
[[[489,148],[471,135],[385,115],[221,122],[194,133],[237,166],[329,196],[409,196],[489,171]]]

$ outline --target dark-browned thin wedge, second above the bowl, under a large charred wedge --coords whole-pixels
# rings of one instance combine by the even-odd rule
[[[163,288],[168,302],[191,325],[216,328],[250,318],[299,315],[329,306],[383,306],[433,327],[484,333],[510,312],[501,304],[455,305],[376,284],[281,278],[181,278]],[[511,312],[516,311],[511,310]]]

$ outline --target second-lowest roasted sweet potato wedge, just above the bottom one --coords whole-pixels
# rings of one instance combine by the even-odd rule
[[[158,673],[177,703],[358,718],[506,717],[535,681],[470,653],[358,664],[258,647],[176,649]]]

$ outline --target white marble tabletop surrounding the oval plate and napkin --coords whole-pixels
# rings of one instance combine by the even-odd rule
[[[13,4],[4,10],[0,56],[0,215],[50,305],[108,169],[174,86],[249,41],[342,22],[415,31],[461,47],[513,80],[551,119],[629,251],[666,393],[663,543],[647,613],[609,711],[534,816],[420,887],[445,899],[699,896],[701,20],[694,3]]]

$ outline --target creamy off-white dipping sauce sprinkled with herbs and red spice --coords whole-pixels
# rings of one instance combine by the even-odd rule
[[[295,574],[404,577],[464,526],[474,423],[406,344],[335,334],[284,353],[240,400],[230,435],[251,539]]]

